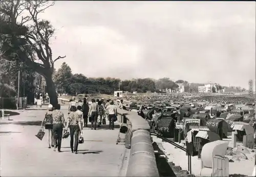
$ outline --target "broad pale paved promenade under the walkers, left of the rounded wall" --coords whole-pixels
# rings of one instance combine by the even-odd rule
[[[1,120],[1,176],[119,175],[125,152],[124,145],[116,145],[119,129],[86,128],[78,154],[70,152],[70,138],[62,140],[62,153],[58,153],[48,148],[47,134],[42,141],[35,137],[45,112],[20,110],[20,115],[10,117],[12,120]],[[67,116],[68,110],[63,112]]]

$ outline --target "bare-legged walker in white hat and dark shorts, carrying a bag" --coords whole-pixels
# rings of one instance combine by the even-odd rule
[[[47,136],[47,141],[49,148],[54,147],[53,145],[53,118],[52,118],[52,111],[53,111],[53,106],[50,104],[48,105],[48,111],[45,115],[44,120],[42,121],[41,127],[45,125],[45,129],[48,130],[48,136]]]

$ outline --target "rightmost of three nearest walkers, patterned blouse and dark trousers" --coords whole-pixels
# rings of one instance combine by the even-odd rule
[[[77,154],[77,148],[78,148],[78,138],[79,138],[79,131],[82,135],[82,128],[81,128],[81,119],[79,118],[79,114],[76,112],[77,109],[75,106],[72,106],[70,108],[70,114],[68,117],[67,127],[70,129],[70,148],[71,153],[75,151],[75,154]],[[75,136],[75,139],[74,139]],[[74,140],[75,140],[75,146],[74,146]]]

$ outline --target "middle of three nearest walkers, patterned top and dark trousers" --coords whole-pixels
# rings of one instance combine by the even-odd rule
[[[61,139],[63,127],[66,127],[64,114],[60,111],[60,105],[58,104],[55,107],[55,110],[52,111],[53,119],[53,139],[54,139],[54,151],[58,147],[58,152],[61,152]]]

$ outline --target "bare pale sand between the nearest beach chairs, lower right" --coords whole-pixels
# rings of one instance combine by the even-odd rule
[[[153,140],[157,143],[162,143],[162,146],[164,148],[164,153],[168,158],[168,162],[173,162],[175,165],[181,166],[182,169],[187,170],[187,156],[184,151],[182,151],[179,148],[175,148],[172,144],[169,144],[167,142],[162,142],[159,138],[153,138]],[[229,139],[225,139],[229,140]],[[230,146],[231,143],[229,143]],[[238,143],[238,145],[241,145],[241,143]],[[249,149],[250,154],[246,154],[247,160],[240,159],[235,160],[232,159],[232,156],[226,156],[228,159],[232,159],[233,162],[229,162],[229,175],[231,174],[242,174],[251,176],[253,168],[254,168],[254,157],[255,157],[255,149]],[[233,149],[235,151],[236,148]],[[254,152],[252,152],[254,150]],[[198,156],[191,157],[191,169],[192,173],[196,176],[199,176],[201,171],[201,160],[198,159]]]

